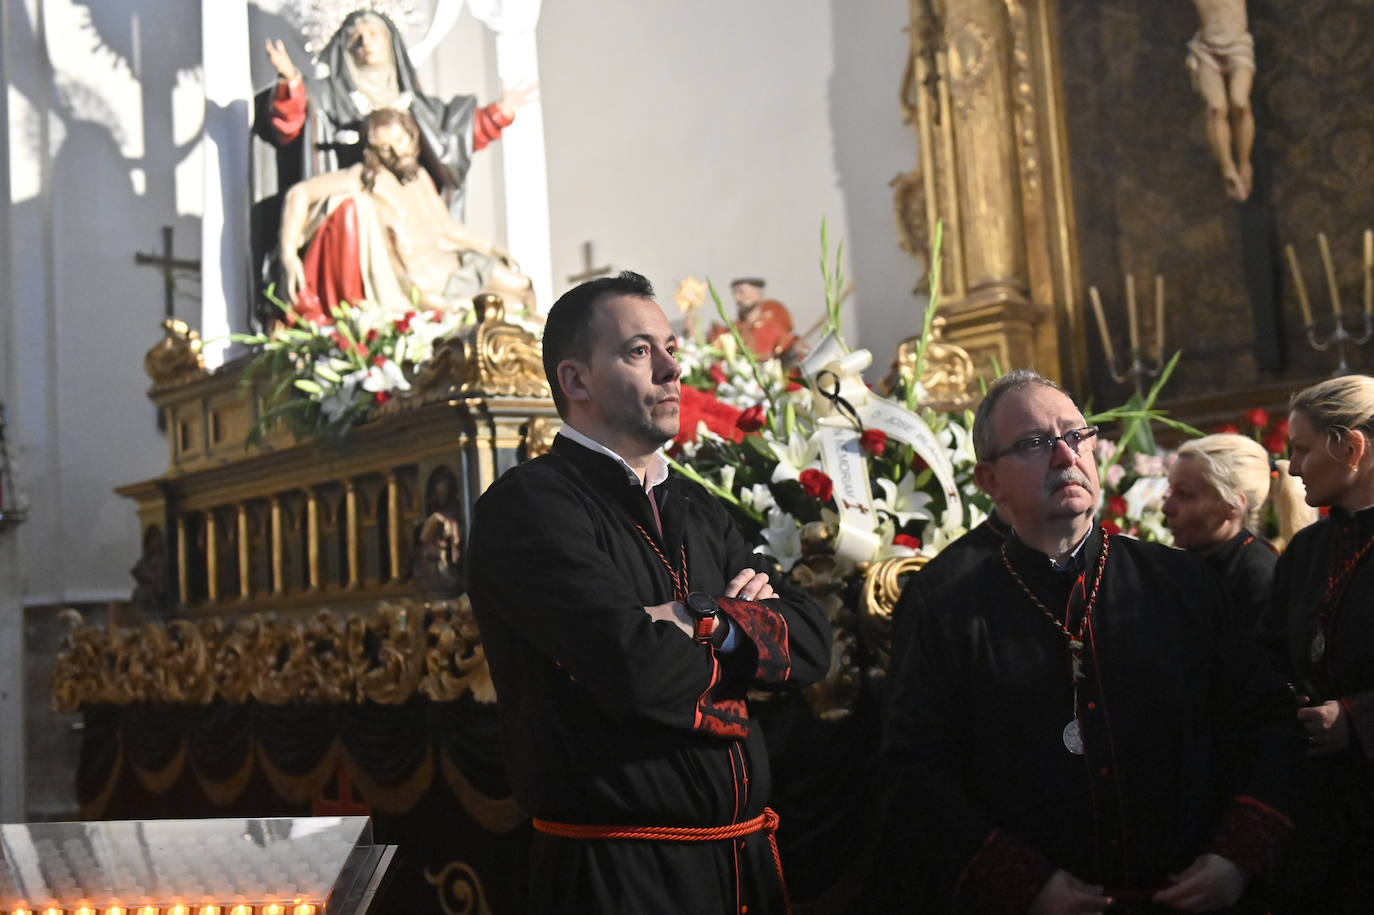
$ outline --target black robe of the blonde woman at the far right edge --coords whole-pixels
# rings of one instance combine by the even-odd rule
[[[1292,911],[1369,911],[1374,905],[1374,548],[1333,605],[1323,606],[1333,566],[1353,558],[1371,539],[1374,508],[1355,514],[1333,508],[1329,518],[1293,534],[1256,629],[1294,688],[1312,705],[1340,701],[1351,724],[1347,750],[1307,760],[1303,782],[1309,809],[1298,822],[1283,878],[1294,900]],[[1319,629],[1326,651],[1314,661]]]

